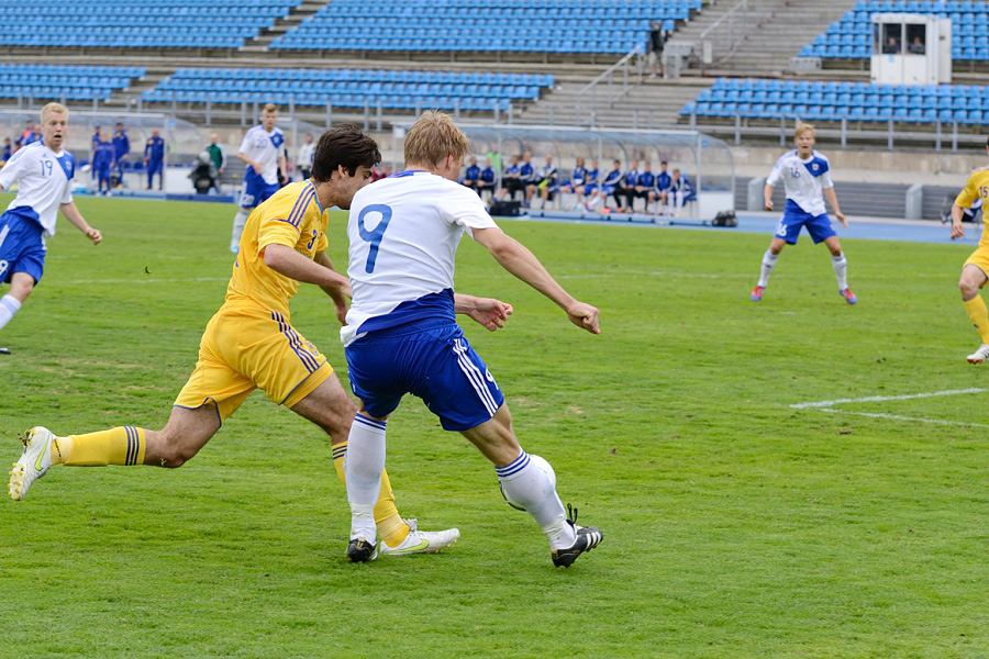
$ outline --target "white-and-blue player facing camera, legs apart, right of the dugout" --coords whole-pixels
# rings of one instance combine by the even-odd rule
[[[814,127],[807,123],[798,124],[793,132],[797,148],[780,156],[769,178],[766,179],[766,187],[763,190],[766,210],[773,210],[773,188],[779,181],[784,181],[786,186],[787,208],[776,226],[769,249],[763,255],[759,282],[752,289],[753,302],[763,299],[763,292],[769,282],[769,272],[776,267],[776,259],[784,245],[796,245],[797,236],[804,226],[815,245],[823,242],[831,252],[831,265],[837,279],[838,294],[848,304],[858,301],[848,288],[848,263],[845,260],[837,234],[831,227],[824,200],[831,204],[842,226],[848,226],[848,221],[838,208],[834,183],[831,181],[831,165],[823,154],[814,150]]]

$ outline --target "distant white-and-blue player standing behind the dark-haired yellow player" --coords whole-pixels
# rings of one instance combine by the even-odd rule
[[[278,170],[286,171],[285,134],[276,126],[278,108],[274,103],[265,105],[262,111],[260,125],[254,126],[244,134],[237,157],[247,164],[244,172],[244,192],[241,194],[241,208],[234,215],[233,233],[230,237],[230,250],[237,253],[241,233],[247,223],[247,215],[281,187]]]

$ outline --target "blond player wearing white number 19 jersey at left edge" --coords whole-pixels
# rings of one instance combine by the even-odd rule
[[[41,111],[42,139],[18,149],[0,171],[0,191],[18,183],[18,194],[0,215],[0,284],[10,291],[0,298],[0,328],[21,309],[41,281],[45,268],[45,238],[55,235],[58,211],[98,245],[100,232],[89,226],[73,201],[76,161],[62,148],[68,110],[48,103]],[[0,353],[9,353],[0,348]]]

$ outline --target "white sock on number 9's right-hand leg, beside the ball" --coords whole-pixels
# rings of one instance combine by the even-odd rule
[[[529,454],[523,450],[511,463],[496,468],[494,472],[505,495],[532,515],[554,549],[574,544],[574,527],[567,524],[567,514],[556,489],[546,472],[532,463]]]

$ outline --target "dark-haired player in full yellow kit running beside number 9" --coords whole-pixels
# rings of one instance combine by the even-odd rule
[[[326,358],[292,328],[289,300],[300,282],[320,286],[343,322],[349,283],[324,254],[325,211],[349,208],[354,192],[368,182],[380,158],[375,141],[356,126],[324,133],[315,148],[312,178],[282,188],[251,213],[226,299],[207,325],[199,360],[165,427],[126,426],[65,437],[32,428],[10,474],[11,498],[23,500],[52,465],[180,467],[256,388],[330,435],[333,463],[343,479],[356,407]],[[435,552],[459,537],[456,528],[429,533],[407,524],[395,507],[387,477],[373,506],[373,525],[386,555]]]

